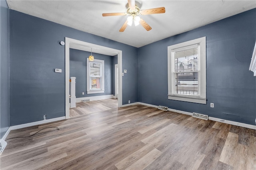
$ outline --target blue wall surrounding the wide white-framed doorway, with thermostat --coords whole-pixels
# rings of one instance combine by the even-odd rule
[[[65,116],[65,37],[122,50],[123,104],[138,101],[137,48],[10,10],[10,124]]]

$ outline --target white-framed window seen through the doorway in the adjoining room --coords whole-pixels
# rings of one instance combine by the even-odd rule
[[[87,94],[104,93],[104,60],[87,58]]]

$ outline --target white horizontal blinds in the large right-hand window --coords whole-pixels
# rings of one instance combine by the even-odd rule
[[[173,94],[198,96],[199,46],[175,51]]]

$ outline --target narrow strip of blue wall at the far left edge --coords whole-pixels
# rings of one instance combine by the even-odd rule
[[[9,97],[9,8],[0,0],[0,139],[10,127]]]

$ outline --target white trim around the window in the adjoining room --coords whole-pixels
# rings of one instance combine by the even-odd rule
[[[101,90],[92,90],[90,89],[90,62],[89,59],[87,58],[87,94],[96,94],[96,93],[104,93],[104,60],[98,60],[98,59],[94,59],[94,61],[92,62],[98,62],[102,64],[101,67],[101,74],[102,74],[102,86],[101,86]]]

